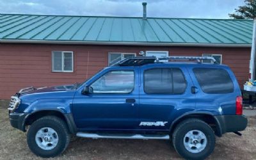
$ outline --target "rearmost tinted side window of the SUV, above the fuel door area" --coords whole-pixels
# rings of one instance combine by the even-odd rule
[[[204,93],[234,92],[234,84],[226,70],[220,68],[194,68],[193,72]]]

